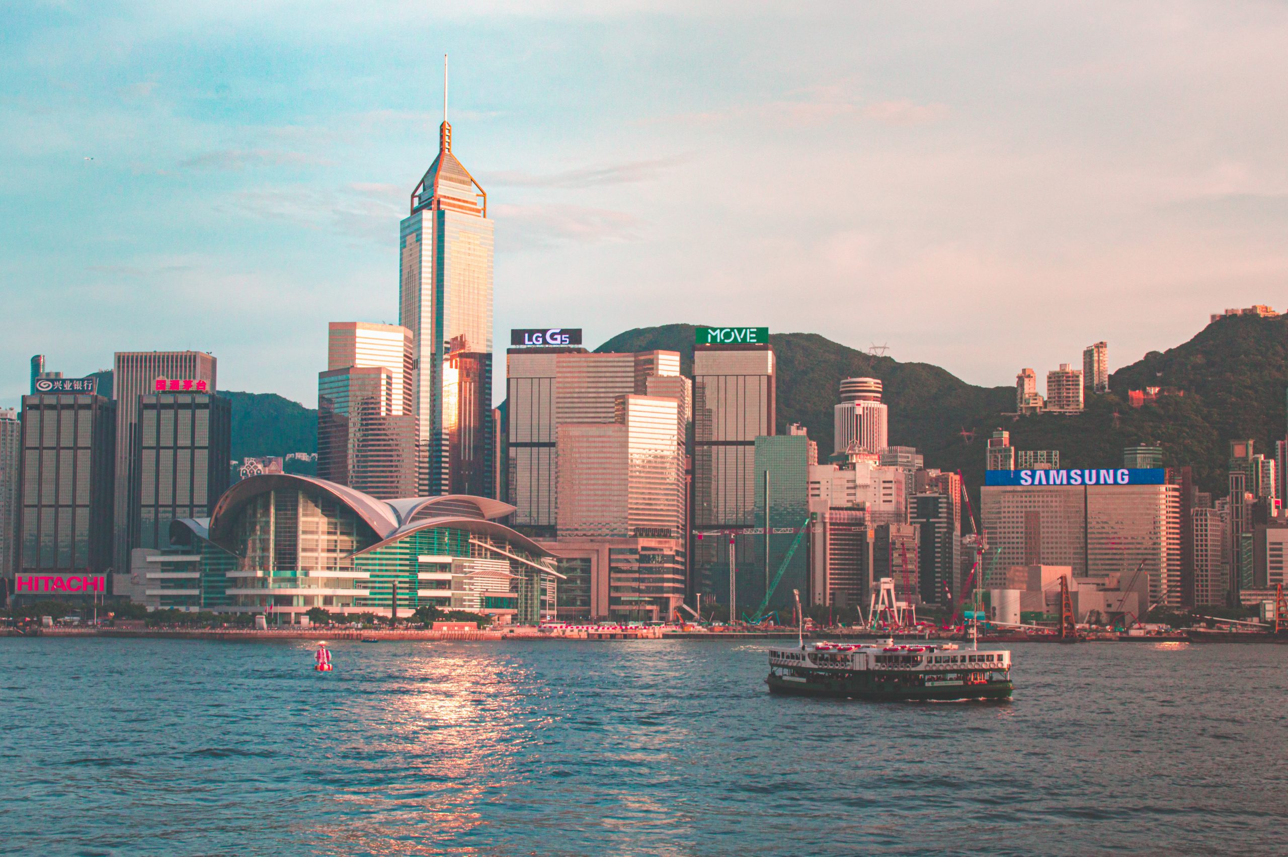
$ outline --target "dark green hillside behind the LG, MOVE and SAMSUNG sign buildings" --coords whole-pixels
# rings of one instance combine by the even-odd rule
[[[627,331],[598,350],[675,350],[689,372],[693,341],[693,326],[667,324]],[[917,447],[927,467],[961,470],[972,489],[983,481],[984,448],[994,428],[1010,431],[1019,449],[1059,449],[1068,467],[1119,465],[1124,447],[1157,441],[1166,465],[1190,465],[1199,489],[1215,494],[1225,492],[1230,439],[1253,438],[1258,449],[1273,453],[1273,440],[1284,436],[1288,318],[1233,317],[1209,324],[1189,342],[1115,372],[1112,392],[1091,396],[1087,410],[1073,417],[1003,417],[1015,408],[1012,387],[974,386],[935,365],[871,356],[814,333],[775,333],[770,342],[778,355],[778,431],[802,423],[826,457],[841,378],[877,377],[890,405],[890,443]],[[1184,395],[1130,407],[1127,390],[1146,386],[1176,387]]]

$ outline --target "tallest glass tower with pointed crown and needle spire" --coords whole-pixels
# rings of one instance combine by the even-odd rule
[[[421,495],[492,497],[492,221],[452,153],[443,57],[438,157],[399,225],[398,323],[413,337]]]

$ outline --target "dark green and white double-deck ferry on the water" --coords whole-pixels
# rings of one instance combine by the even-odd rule
[[[954,643],[806,642],[769,647],[773,694],[868,701],[1010,699],[1011,652]]]

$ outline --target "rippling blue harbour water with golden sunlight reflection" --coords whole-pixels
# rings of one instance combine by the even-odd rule
[[[0,853],[1285,853],[1288,646],[1019,645],[1009,704],[761,643],[0,638]]]

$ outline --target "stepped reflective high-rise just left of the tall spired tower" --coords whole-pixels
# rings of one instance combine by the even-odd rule
[[[420,488],[412,336],[395,324],[332,322],[318,373],[318,476],[380,499]]]

